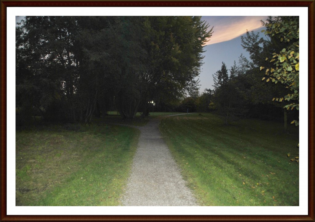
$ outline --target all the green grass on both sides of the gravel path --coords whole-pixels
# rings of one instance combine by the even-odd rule
[[[201,206],[299,205],[298,128],[212,113],[123,122],[117,112],[89,125],[39,124],[16,130],[17,206],[120,206],[140,131],[159,125]]]

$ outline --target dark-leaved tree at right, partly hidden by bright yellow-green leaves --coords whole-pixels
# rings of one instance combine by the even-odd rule
[[[269,16],[267,22],[261,21],[263,25],[274,24],[281,21],[281,17]],[[290,16],[289,16],[290,17]],[[272,26],[271,26],[272,27]],[[268,27],[269,28],[269,27]],[[247,32],[246,37],[242,38],[242,46],[249,51],[251,61],[251,68],[247,72],[245,79],[250,87],[246,87],[244,96],[251,101],[254,106],[260,107],[261,105],[268,104],[276,107],[281,107],[279,103],[272,102],[273,98],[280,97],[283,94],[289,94],[288,90],[281,87],[279,84],[271,85],[263,83],[261,79],[265,79],[265,72],[262,72],[259,67],[269,67],[270,62],[266,60],[266,57],[272,57],[274,52],[282,51],[286,48],[288,42],[281,41],[282,37],[279,34],[267,34],[266,38],[259,38],[259,34],[254,32]],[[276,69],[274,66],[273,69]],[[269,80],[268,80],[269,81]],[[281,97],[280,97],[281,98]],[[279,98],[279,99],[280,99]],[[285,106],[284,104],[282,106]],[[284,115],[284,130],[287,128],[287,112],[283,111]]]

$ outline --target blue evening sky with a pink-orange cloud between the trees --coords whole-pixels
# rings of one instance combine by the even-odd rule
[[[203,48],[205,52],[199,75],[200,93],[205,88],[213,89],[212,75],[221,69],[222,62],[230,69],[234,60],[238,62],[241,54],[249,59],[249,53],[241,45],[241,36],[246,34],[246,30],[260,33],[263,29],[261,20],[266,21],[267,16],[203,16],[201,19],[209,23],[210,28],[214,28],[210,40]]]

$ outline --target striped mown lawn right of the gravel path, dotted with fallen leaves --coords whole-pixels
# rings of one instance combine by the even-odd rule
[[[167,117],[159,128],[205,206],[298,206],[298,128],[256,119],[224,125],[215,114]],[[288,158],[287,154],[291,156]]]

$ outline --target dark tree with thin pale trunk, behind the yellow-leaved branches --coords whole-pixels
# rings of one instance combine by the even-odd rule
[[[287,39],[284,41],[284,38],[283,36],[281,36],[280,32],[271,32],[271,30],[278,27],[283,21],[288,19],[290,20],[292,18],[294,18],[294,16],[269,16],[266,22],[262,21],[262,24],[266,27],[265,38],[259,38],[259,34],[255,34],[254,32],[247,32],[246,36],[242,37],[242,46],[249,52],[250,58],[252,59],[251,68],[246,74],[248,78],[245,80],[249,82],[249,85],[251,85],[251,87],[243,91],[246,93],[247,98],[251,100],[251,103],[253,105],[261,106],[267,104],[274,106],[275,109],[283,106],[286,106],[287,108],[287,105],[289,105],[289,102],[287,101],[283,101],[282,104],[276,101],[273,102],[273,100],[277,100],[277,98],[278,101],[284,100],[284,97],[281,95],[286,95],[286,97],[288,95],[292,96],[292,93],[290,93],[288,89],[282,87],[280,84],[268,84],[266,82],[261,84],[261,79],[266,79],[267,82],[272,80],[266,78],[266,72],[262,71],[263,67],[269,67],[269,69],[265,69],[267,70],[267,73],[269,71],[274,71],[278,69],[276,67],[276,64],[271,67],[271,63],[269,62],[269,60],[272,60],[273,62],[276,57],[274,53],[282,51],[284,48],[287,48],[288,45],[292,43],[288,42]],[[279,31],[280,30],[281,28],[279,29]],[[288,31],[288,33],[289,32],[290,31]],[[291,39],[291,41],[292,40],[293,39]],[[268,60],[266,58],[270,59]],[[277,76],[277,78],[279,78],[279,76]],[[278,83],[278,79],[273,79],[272,81]],[[286,130],[288,122],[287,109],[283,110],[283,115],[284,130]]]

